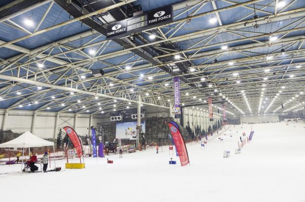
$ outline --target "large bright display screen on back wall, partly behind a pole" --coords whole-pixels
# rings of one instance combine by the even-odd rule
[[[141,122],[145,133],[145,121]],[[137,122],[116,123],[115,137],[120,139],[137,139]]]

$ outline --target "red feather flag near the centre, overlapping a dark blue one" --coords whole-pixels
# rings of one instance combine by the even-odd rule
[[[178,154],[179,159],[180,159],[180,164],[181,164],[181,166],[186,166],[190,163],[190,160],[189,160],[187,146],[186,146],[186,143],[183,139],[183,136],[181,135],[181,132],[179,130],[179,126],[174,121],[167,122],[167,125],[169,127],[169,130],[170,130],[172,136],[173,136],[176,151],[177,151],[177,154]]]

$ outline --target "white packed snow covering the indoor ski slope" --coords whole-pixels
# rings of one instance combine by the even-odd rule
[[[235,154],[242,132],[253,139]],[[224,135],[227,134],[227,135]],[[232,135],[232,137],[230,137]],[[218,137],[224,140],[221,142]],[[85,158],[85,169],[20,174],[0,166],[0,199],[44,202],[305,202],[305,124],[226,126],[205,149],[187,144],[191,165],[180,166],[168,146],[106,158]],[[229,150],[229,158],[223,152]],[[114,164],[107,164],[107,158]],[[169,165],[170,158],[177,165]],[[77,162],[77,161],[75,161]],[[53,164],[53,163],[52,163]],[[6,173],[6,174],[5,174]]]

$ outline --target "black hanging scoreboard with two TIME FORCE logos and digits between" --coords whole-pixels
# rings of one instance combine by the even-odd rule
[[[110,24],[107,26],[106,38],[122,37],[168,22],[173,22],[172,5],[157,8],[142,15]]]

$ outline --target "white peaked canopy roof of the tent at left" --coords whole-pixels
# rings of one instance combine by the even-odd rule
[[[38,136],[31,134],[29,131],[25,132],[24,134],[20,135],[15,139],[0,144],[0,148],[1,147],[28,148],[28,147],[43,147],[43,146],[54,146],[54,142],[41,139]]]

